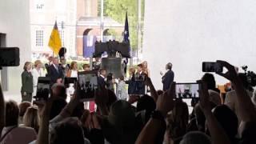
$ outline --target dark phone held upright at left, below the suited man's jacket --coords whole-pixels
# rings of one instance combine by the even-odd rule
[[[37,93],[34,97],[36,101],[47,100],[50,96],[50,78],[49,77],[39,77]]]

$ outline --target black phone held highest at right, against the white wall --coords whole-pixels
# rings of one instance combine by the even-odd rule
[[[202,62],[202,71],[221,73],[223,71],[223,67],[218,62]]]

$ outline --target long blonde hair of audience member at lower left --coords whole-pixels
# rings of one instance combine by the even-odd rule
[[[34,128],[35,131],[39,130],[39,114],[38,108],[35,106],[30,106],[26,109],[26,113],[23,117],[23,123],[25,126]]]

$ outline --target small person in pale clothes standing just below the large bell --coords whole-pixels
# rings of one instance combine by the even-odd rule
[[[121,76],[118,82],[118,99],[119,100],[127,100],[128,93],[126,90],[126,82],[124,81],[124,77]]]

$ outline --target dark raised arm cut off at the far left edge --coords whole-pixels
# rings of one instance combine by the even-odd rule
[[[5,98],[2,94],[2,86],[0,82],[0,134],[2,134],[2,129],[5,126],[6,121],[6,104]]]

